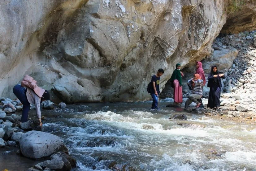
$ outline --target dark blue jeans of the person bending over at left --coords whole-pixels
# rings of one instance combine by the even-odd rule
[[[28,111],[30,110],[30,103],[28,102],[27,95],[26,95],[27,90],[21,85],[17,84],[12,89],[12,92],[13,94],[15,94],[16,97],[18,97],[20,102],[23,104],[21,122],[27,122]]]

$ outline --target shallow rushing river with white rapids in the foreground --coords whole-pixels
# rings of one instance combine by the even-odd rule
[[[151,102],[44,110],[43,131],[63,139],[78,162],[74,171],[256,170],[254,125],[166,108],[169,103],[161,101],[160,111],[151,111]],[[174,114],[188,120],[169,120]]]

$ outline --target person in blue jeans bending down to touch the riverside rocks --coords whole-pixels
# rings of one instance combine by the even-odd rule
[[[34,92],[34,90],[31,88],[22,87],[20,84],[14,86],[12,90],[13,93],[23,104],[21,123],[28,121],[28,111],[30,110],[30,104],[35,104],[37,117],[40,121],[40,126],[42,126],[40,104],[44,100],[50,100],[50,93],[42,88],[38,87],[38,89],[44,91],[41,97],[39,97],[40,95],[37,95],[38,91]]]

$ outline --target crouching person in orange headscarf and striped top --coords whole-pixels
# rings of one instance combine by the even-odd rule
[[[192,83],[193,94],[188,95],[188,100],[186,100],[184,110],[188,110],[189,104],[191,104],[192,102],[195,102],[197,104],[195,106],[196,108],[198,108],[201,105],[201,103],[198,102],[197,100],[202,98],[202,94],[203,94],[202,87],[203,87],[204,81],[202,80],[199,74],[194,74],[194,78],[191,80],[193,82]]]

